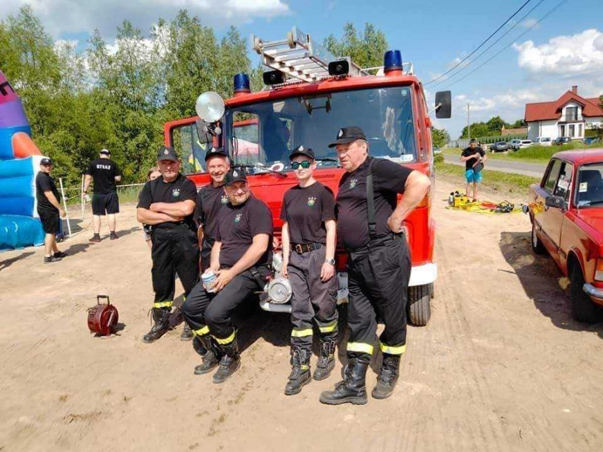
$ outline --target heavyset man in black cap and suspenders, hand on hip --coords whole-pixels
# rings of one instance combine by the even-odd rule
[[[365,379],[377,317],[385,328],[379,337],[383,359],[373,397],[389,397],[398,381],[400,357],[406,350],[411,272],[402,222],[425,198],[431,182],[419,171],[370,157],[360,127],[340,129],[329,147],[337,147],[337,157],[346,171],[337,193],[337,237],[348,253],[350,337],[344,380],[335,390],[324,391],[320,402],[366,404]],[[367,177],[369,171],[371,176]],[[404,198],[396,205],[398,194]]]

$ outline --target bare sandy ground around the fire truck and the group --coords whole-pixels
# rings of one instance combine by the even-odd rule
[[[603,326],[570,319],[526,216],[445,209],[458,187],[436,184],[432,320],[409,328],[396,393],[366,406],[318,402],[341,364],[283,395],[286,315],[243,322],[241,369],[220,386],[193,375],[181,327],[142,343],[150,257],[133,207],[118,241],[90,245],[84,231],[62,244],[61,263],[43,265],[41,249],[0,254],[0,451],[603,450]],[[86,327],[102,292],[124,324],[108,340]]]

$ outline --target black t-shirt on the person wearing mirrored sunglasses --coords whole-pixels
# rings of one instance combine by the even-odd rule
[[[326,243],[326,220],[335,220],[333,191],[319,182],[296,185],[283,198],[281,220],[289,226],[291,243]]]

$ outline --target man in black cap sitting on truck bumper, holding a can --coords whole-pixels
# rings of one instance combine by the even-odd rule
[[[272,261],[270,209],[251,196],[242,171],[229,171],[224,186],[229,203],[220,209],[210,264],[217,278],[207,288],[199,281],[182,306],[185,321],[208,350],[194,372],[210,373],[219,365],[214,383],[223,383],[241,364],[232,312],[263,289]]]

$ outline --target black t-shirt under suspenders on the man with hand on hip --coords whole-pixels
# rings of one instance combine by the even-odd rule
[[[344,173],[337,193],[337,238],[348,250],[369,244],[369,214],[367,210],[367,160],[352,173]],[[409,174],[407,167],[378,159],[373,164],[373,198],[375,199],[375,220],[377,236],[382,237],[391,231],[387,218],[396,209],[398,193],[404,192]]]

